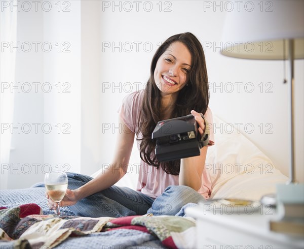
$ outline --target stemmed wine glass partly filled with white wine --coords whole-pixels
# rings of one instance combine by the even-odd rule
[[[48,195],[58,204],[56,214],[60,215],[60,202],[67,189],[67,176],[65,173],[51,171],[45,175],[45,186]]]

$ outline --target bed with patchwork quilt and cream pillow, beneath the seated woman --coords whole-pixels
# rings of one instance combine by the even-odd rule
[[[224,122],[214,116],[214,124]],[[288,179],[251,141],[237,131],[215,134],[208,148],[205,186],[211,199],[258,201]],[[134,187],[134,177],[120,185]],[[125,177],[124,177],[125,178]],[[68,207],[61,217],[49,210],[43,187],[2,190],[0,248],[194,248],[195,225],[184,206],[175,216],[77,217]]]

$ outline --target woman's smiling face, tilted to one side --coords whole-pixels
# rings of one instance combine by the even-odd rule
[[[172,43],[157,61],[154,79],[162,96],[173,94],[185,86],[191,69],[191,54],[181,42]]]

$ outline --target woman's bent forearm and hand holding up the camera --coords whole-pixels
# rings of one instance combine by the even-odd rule
[[[204,119],[196,111],[191,111],[191,114],[195,116],[200,128],[201,135],[204,134],[205,124]],[[202,185],[202,174],[205,168],[205,161],[207,155],[207,146],[201,148],[201,154],[197,157],[184,158],[180,160],[180,172],[179,172],[179,185],[185,185],[198,191]]]

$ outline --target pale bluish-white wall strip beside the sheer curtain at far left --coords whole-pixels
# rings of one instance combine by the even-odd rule
[[[41,130],[44,113],[43,92],[35,92],[32,82],[43,82],[43,52],[42,50],[29,50],[27,43],[42,41],[43,23],[42,12],[28,13],[20,11],[17,22],[16,47],[16,76],[15,82],[10,82],[7,91],[15,94],[15,113],[13,125],[10,124],[12,132],[12,150],[10,155],[10,167],[8,168],[8,188],[22,188],[27,184],[42,179],[41,165],[44,160],[43,137]],[[11,49],[11,47],[9,48]],[[28,52],[26,52],[28,51]],[[30,88],[28,87],[30,85]],[[14,88],[16,87],[16,88]],[[29,91],[30,90],[30,91]],[[37,132],[32,123],[37,123]],[[12,128],[16,128],[13,129]]]

